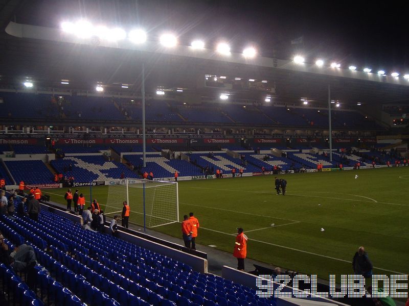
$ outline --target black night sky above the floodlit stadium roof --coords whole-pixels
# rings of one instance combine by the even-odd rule
[[[307,62],[323,58],[342,67],[409,73],[408,8],[401,2],[232,1],[232,0],[31,0],[17,22],[59,27],[79,17],[130,30],[140,24],[148,39],[164,31],[190,44],[214,48],[224,40],[233,52],[255,45],[262,56]],[[303,37],[303,44],[291,40]]]

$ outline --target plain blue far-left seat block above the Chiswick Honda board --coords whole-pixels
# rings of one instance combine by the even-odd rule
[[[5,164],[17,184],[20,181],[26,184],[53,183],[53,173],[42,161],[5,161]]]

